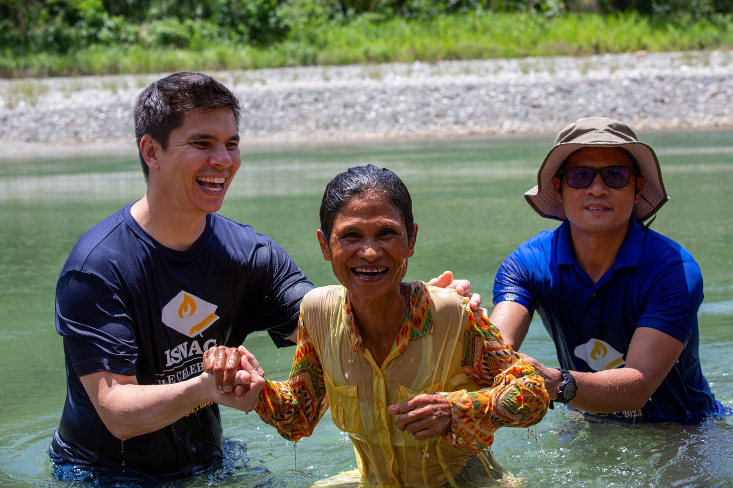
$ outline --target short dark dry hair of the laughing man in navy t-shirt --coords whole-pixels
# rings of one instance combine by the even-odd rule
[[[148,168],[140,151],[142,136],[150,135],[166,151],[171,131],[183,124],[184,113],[207,113],[222,107],[232,109],[239,129],[239,100],[226,86],[202,73],[177,72],[144,89],[135,104],[135,137],[145,181]]]

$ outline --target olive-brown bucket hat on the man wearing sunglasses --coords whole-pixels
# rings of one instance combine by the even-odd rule
[[[565,211],[555,193],[552,178],[572,153],[584,147],[618,147],[625,149],[636,159],[640,176],[646,179],[641,198],[634,204],[633,214],[638,222],[644,222],[669,200],[654,150],[639,142],[633,130],[623,122],[603,117],[587,117],[576,120],[559,132],[555,145],[539,167],[537,186],[524,194],[524,198],[542,217],[565,219]]]

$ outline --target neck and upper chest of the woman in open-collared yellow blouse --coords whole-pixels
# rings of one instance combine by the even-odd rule
[[[409,283],[400,283],[392,293],[376,299],[349,295],[351,313],[361,340],[379,365],[388,356],[405,321],[409,296]]]

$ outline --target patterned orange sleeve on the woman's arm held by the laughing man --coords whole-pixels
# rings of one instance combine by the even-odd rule
[[[287,440],[298,440],[312,434],[328,409],[325,381],[320,359],[308,331],[303,325],[303,312],[298,320],[298,346],[287,381],[265,379],[259,393],[257,414]]]

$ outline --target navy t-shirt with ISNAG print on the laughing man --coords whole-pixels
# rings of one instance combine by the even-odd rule
[[[313,285],[279,244],[248,225],[209,214],[194,245],[176,251],[152,239],[130,206],[86,232],[59,277],[56,331],[64,338],[67,397],[51,459],[128,476],[199,473],[221,458],[218,405],[203,403],[122,443],[79,377],[107,370],[141,385],[177,383],[202,372],[205,350],[236,347],[252,331],[290,345]]]

